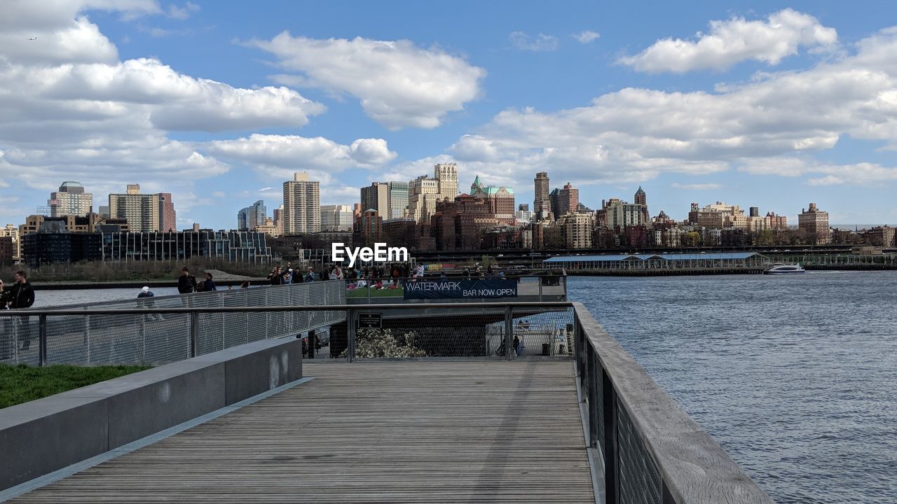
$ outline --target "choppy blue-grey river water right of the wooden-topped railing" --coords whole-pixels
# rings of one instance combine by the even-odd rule
[[[774,500],[897,502],[897,272],[568,285]]]

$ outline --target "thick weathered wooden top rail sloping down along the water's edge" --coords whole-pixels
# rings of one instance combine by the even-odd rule
[[[609,378],[613,387],[614,399],[623,404],[641,442],[658,466],[662,478],[662,488],[658,489],[658,493],[662,495],[663,502],[668,501],[667,495],[677,504],[772,502],[710,434],[692,420],[673,397],[666,394],[620,343],[607,334],[582,303],[574,302],[572,305],[580,334],[584,336],[580,344],[588,344],[594,351],[602,375]],[[585,346],[578,346],[577,352],[581,348]],[[588,363],[583,365],[584,358],[583,355],[575,357],[580,375],[586,370],[584,368],[591,367]],[[596,369],[588,369],[588,372],[595,373]],[[583,382],[586,387],[600,387],[603,378],[596,379],[584,379]],[[596,396],[584,392],[584,396],[587,395]],[[593,419],[590,413],[591,421],[605,419]],[[589,430],[594,432],[596,427],[590,424]],[[594,433],[589,438],[593,441],[597,439]],[[615,439],[616,435],[612,438]],[[605,436],[605,439],[611,438]],[[616,456],[615,448],[605,451]],[[617,466],[615,460],[605,460],[605,467],[608,465],[611,470]],[[615,479],[615,476],[612,477]],[[612,501],[616,500],[608,500]]]

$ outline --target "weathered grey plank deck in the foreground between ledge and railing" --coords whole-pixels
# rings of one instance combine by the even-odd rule
[[[306,363],[308,383],[13,502],[594,502],[570,361]]]

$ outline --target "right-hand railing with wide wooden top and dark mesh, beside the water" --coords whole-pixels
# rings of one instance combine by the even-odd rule
[[[772,502],[581,303],[573,307],[583,419],[603,462],[605,502]]]

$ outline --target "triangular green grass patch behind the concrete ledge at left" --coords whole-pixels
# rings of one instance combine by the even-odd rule
[[[46,366],[0,364],[0,408],[22,404],[73,388],[123,377],[151,366]]]

